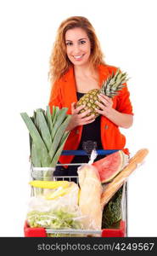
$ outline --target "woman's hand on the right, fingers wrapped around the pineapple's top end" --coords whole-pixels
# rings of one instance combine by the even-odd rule
[[[96,104],[100,109],[97,108],[96,111],[106,117],[109,117],[109,115],[112,113],[112,110],[113,110],[112,99],[103,94],[98,95],[98,98],[101,102],[96,102]]]

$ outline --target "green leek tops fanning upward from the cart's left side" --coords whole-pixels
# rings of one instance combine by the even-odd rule
[[[27,113],[20,113],[30,132],[31,162],[34,167],[55,167],[64,148],[64,143],[70,134],[65,131],[71,116],[68,108],[53,106],[44,111],[36,109],[32,117]]]

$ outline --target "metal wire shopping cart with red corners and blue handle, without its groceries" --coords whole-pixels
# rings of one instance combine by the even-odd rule
[[[97,150],[97,154],[107,155],[113,154],[118,150]],[[87,155],[84,150],[64,150],[62,155]],[[81,166],[83,163],[72,163],[69,166]],[[67,166],[67,164],[61,164],[58,166]],[[33,179],[33,171],[31,166],[31,179]],[[78,183],[77,176],[53,176],[53,180],[73,180],[76,179]],[[33,195],[33,190],[31,190],[31,195]],[[125,237],[127,236],[127,183],[122,186],[122,197],[121,197],[121,221],[118,228],[114,229],[103,229],[103,230],[52,230],[47,228],[31,228],[25,221],[24,226],[25,237],[47,237],[47,236],[100,236],[100,237]]]

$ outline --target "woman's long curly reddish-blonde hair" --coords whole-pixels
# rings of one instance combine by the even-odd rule
[[[99,64],[104,64],[104,54],[100,48],[100,44],[92,24],[85,17],[72,16],[60,24],[56,40],[53,44],[48,73],[48,77],[51,82],[60,79],[72,65],[68,56],[66,55],[64,38],[65,32],[76,27],[81,27],[85,30],[85,32],[87,32],[87,36],[91,42],[91,55],[89,61],[93,64],[93,67],[97,67]]]

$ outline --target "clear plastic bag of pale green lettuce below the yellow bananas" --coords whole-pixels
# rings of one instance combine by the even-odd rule
[[[71,182],[70,186],[66,188],[68,193],[54,197],[53,193],[57,194],[58,191],[59,188],[46,189],[40,196],[31,197],[26,216],[27,223],[31,228],[43,227],[53,230],[83,228],[81,223],[83,217],[78,207],[78,185]]]

